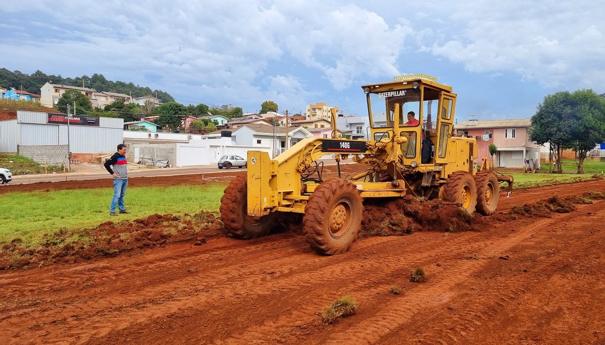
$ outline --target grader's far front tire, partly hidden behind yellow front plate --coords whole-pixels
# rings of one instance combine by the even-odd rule
[[[238,239],[253,239],[268,234],[276,223],[277,214],[250,217],[247,210],[247,177],[238,176],[224,190],[221,198],[221,221],[225,232]]]

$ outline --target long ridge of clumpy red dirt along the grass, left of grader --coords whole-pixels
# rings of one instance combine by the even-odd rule
[[[217,216],[206,211],[180,217],[152,214],[134,221],[104,222],[78,235],[61,229],[51,236],[45,235],[35,250],[22,247],[21,239],[5,243],[0,254],[0,269],[81,262],[175,242],[201,245],[212,237],[222,236],[221,229]]]

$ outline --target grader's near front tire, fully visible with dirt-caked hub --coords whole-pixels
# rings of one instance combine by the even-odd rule
[[[344,179],[323,182],[310,196],[302,218],[302,233],[321,254],[348,251],[361,229],[361,192]]]

